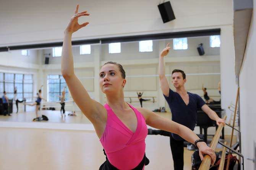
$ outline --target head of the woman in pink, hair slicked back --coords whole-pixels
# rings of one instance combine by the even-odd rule
[[[126,80],[122,78],[117,65],[106,64],[99,73],[99,85],[102,92],[115,93],[123,89]]]

